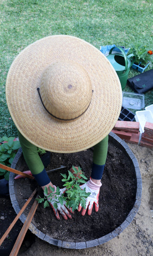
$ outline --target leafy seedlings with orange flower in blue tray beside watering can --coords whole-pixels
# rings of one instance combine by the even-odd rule
[[[135,55],[135,62],[132,68],[142,73],[150,63],[152,51],[147,50],[146,46],[142,45],[132,46],[131,51]]]

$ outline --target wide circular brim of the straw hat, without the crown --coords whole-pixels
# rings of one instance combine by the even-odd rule
[[[65,60],[83,66],[93,90],[89,108],[71,121],[50,116],[37,92],[43,70]],[[98,49],[77,37],[54,35],[37,40],[15,58],[7,76],[6,99],[17,129],[31,143],[51,152],[73,153],[110,133],[120,114],[122,90],[114,68]]]

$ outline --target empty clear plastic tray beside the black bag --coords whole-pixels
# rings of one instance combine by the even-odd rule
[[[122,92],[122,106],[133,110],[143,109],[144,94]]]

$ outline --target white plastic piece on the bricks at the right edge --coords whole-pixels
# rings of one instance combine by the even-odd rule
[[[149,110],[136,111],[136,122],[139,122],[139,131],[144,133],[144,126],[146,122],[153,123],[153,117]]]

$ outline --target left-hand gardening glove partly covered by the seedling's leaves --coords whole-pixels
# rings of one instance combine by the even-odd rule
[[[56,192],[56,186],[54,185],[54,187],[55,187],[55,192]],[[60,197],[64,192],[65,192],[65,188],[62,188],[62,189],[60,188],[60,195],[59,195],[59,197]],[[45,193],[44,193],[44,196],[46,196]],[[58,196],[57,196],[57,197],[58,197]],[[62,215],[62,217],[64,218],[64,220],[67,220],[67,217],[68,217],[69,219],[72,219],[70,213],[73,214],[73,212],[72,212],[72,210],[71,210],[70,208],[67,208],[67,207],[65,206],[66,201],[63,202],[63,205],[61,205],[60,203],[57,203],[57,205],[58,205],[57,209],[54,207],[54,203],[56,202],[56,200],[54,199],[54,197],[53,197],[53,198],[48,198],[47,201],[48,201],[48,203],[52,206],[53,211],[54,211],[54,214],[55,214],[55,216],[56,216],[56,218],[57,218],[58,220],[60,220],[59,212],[60,212],[60,214]],[[70,212],[70,213],[69,213],[69,212]]]

